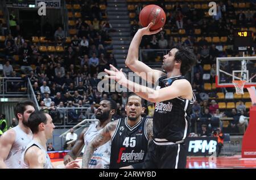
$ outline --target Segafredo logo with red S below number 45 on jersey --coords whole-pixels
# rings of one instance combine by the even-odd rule
[[[141,150],[141,152],[135,153],[134,150],[131,150],[130,153],[125,153],[124,151],[126,148],[120,148],[119,154],[118,154],[118,160],[117,163],[120,162],[129,162],[129,163],[137,163],[144,158],[144,150]]]

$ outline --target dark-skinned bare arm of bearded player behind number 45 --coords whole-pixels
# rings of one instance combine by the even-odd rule
[[[64,165],[67,165],[68,162],[76,160],[76,158],[81,153],[82,148],[84,147],[84,134],[87,130],[88,127],[84,128],[71,151],[66,156],[64,156]]]

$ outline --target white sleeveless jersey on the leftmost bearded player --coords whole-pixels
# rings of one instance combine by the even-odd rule
[[[30,143],[32,140],[32,132],[30,131],[29,135],[27,135],[22,129],[17,125],[16,127],[12,128],[15,131],[15,141],[11,146],[11,150],[5,160],[5,164],[7,168],[10,169],[20,169],[20,159],[22,153],[24,152],[26,145]]]

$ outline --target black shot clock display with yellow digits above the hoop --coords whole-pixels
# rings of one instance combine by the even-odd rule
[[[253,32],[236,31],[234,33],[234,48],[238,51],[250,51],[253,47]]]

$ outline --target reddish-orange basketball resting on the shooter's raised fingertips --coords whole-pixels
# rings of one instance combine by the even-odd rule
[[[143,27],[147,27],[149,23],[153,22],[154,25],[150,30],[158,30],[164,26],[164,23],[166,23],[166,13],[157,5],[147,5],[139,14],[139,22],[141,22]]]

